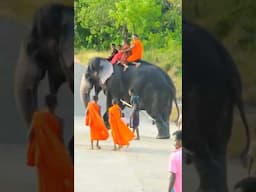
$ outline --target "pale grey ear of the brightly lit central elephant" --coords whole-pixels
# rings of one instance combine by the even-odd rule
[[[114,69],[113,65],[105,59],[100,59],[100,71],[99,71],[99,80],[100,84],[105,84],[106,80],[113,74]]]

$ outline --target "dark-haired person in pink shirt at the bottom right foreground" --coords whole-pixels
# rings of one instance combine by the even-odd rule
[[[176,150],[170,154],[168,171],[170,183],[168,192],[182,192],[182,131],[173,133]]]

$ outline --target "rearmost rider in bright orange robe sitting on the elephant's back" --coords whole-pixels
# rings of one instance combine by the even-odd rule
[[[142,58],[144,51],[143,44],[140,41],[138,35],[132,35],[131,46],[124,51],[131,51],[131,55],[127,58],[127,61],[125,61],[124,63],[127,64],[127,62],[134,62],[135,66],[138,67],[140,63],[137,62]]]

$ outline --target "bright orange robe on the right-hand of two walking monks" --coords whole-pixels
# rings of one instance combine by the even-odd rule
[[[121,119],[121,109],[117,104],[113,105],[108,110],[109,124],[114,143],[117,145],[128,145],[135,137],[133,132]]]

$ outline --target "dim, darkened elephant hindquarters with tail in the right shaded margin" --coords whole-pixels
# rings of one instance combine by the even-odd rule
[[[238,69],[224,46],[203,28],[183,22],[183,147],[199,174],[198,191],[227,192],[227,144],[237,106],[250,145]],[[185,163],[185,161],[183,161]]]

